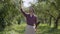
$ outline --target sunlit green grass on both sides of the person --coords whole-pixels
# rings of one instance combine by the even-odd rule
[[[24,34],[26,24],[21,25],[15,24],[7,26],[4,31],[0,34]],[[60,34],[60,27],[58,29],[53,29],[47,24],[40,24],[37,28],[36,34]]]

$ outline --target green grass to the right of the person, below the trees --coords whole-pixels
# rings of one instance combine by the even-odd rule
[[[53,29],[52,27],[49,27],[46,24],[42,24],[42,25],[39,25],[37,34],[60,34],[60,28]]]

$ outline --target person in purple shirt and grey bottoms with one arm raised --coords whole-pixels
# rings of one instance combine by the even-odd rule
[[[21,8],[21,12],[26,17],[27,22],[25,34],[36,34],[35,29],[37,24],[37,16],[34,14],[34,9],[32,7],[29,7],[29,13],[26,13]]]

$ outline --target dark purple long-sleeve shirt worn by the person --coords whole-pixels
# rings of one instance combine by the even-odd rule
[[[26,17],[26,21],[28,25],[34,26],[34,24],[37,23],[37,17],[35,15],[31,17],[30,14],[26,14],[22,9],[21,9],[21,12]]]

